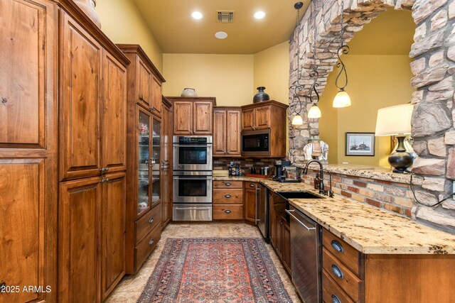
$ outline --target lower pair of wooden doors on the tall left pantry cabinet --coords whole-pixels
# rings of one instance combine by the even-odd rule
[[[125,193],[124,172],[60,183],[59,300],[100,302],[124,276]]]

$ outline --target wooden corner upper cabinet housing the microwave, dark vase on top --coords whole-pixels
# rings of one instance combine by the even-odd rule
[[[269,155],[258,155],[258,157],[286,157],[288,107],[274,100],[242,106],[242,131],[270,130]]]

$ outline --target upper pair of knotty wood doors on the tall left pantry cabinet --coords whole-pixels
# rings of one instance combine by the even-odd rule
[[[125,170],[124,62],[65,11],[60,40],[60,180]]]

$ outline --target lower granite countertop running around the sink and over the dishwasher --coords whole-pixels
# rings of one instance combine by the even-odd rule
[[[213,177],[213,180],[260,182],[274,192],[318,194],[304,183],[279,183],[254,177]],[[340,195],[326,199],[289,199],[289,203],[362,253],[455,254],[454,235]]]

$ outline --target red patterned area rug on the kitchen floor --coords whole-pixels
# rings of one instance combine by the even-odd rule
[[[168,239],[137,302],[292,302],[261,238]]]

